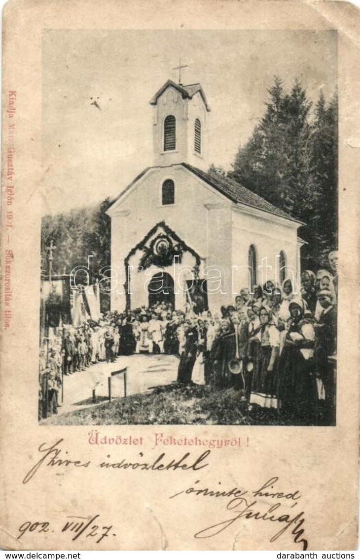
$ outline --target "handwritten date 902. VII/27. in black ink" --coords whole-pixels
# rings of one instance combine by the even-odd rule
[[[25,521],[18,528],[18,539],[29,533],[68,533],[72,540],[77,540],[79,537],[94,539],[98,544],[104,537],[116,536],[112,533],[112,525],[101,525],[100,514],[88,517],[79,515],[68,515],[59,526],[53,528],[49,521]]]

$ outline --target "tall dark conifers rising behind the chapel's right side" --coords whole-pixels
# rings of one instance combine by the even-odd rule
[[[240,146],[231,178],[306,224],[306,265],[324,264],[336,245],[337,97],[326,108],[320,96],[311,123],[311,102],[300,80],[290,92],[280,78],[268,90],[266,111]]]

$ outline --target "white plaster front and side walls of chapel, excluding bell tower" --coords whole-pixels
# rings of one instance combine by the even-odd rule
[[[175,184],[175,204],[162,206],[161,193],[164,180],[172,179]],[[111,209],[113,274],[117,274],[117,287],[112,291],[112,309],[125,309],[124,260],[130,251],[148,234],[157,223],[164,221],[188,246],[205,260],[201,263],[200,277],[207,278],[209,307],[218,311],[221,305],[234,301],[235,293],[248,286],[246,268],[234,270],[234,266],[247,267],[248,250],[251,244],[257,249],[257,263],[267,258],[272,267],[268,279],[275,278],[276,255],[285,251],[287,265],[299,274],[299,244],[297,224],[285,221],[272,214],[248,207],[234,207],[230,200],[217,193],[182,166],[157,167],[148,171]],[[155,234],[156,235],[156,234]],[[136,272],[140,251],[132,257],[130,289],[131,306],[148,304],[148,292],[144,289],[148,273]],[[195,260],[189,254],[183,265],[191,269]],[[208,267],[208,269],[206,269]],[[172,274],[172,269],[165,272]],[[280,270],[276,271],[277,281]],[[215,281],[214,277],[219,278]],[[290,276],[288,274],[287,276]],[[190,277],[190,276],[189,276]],[[211,282],[211,278],[213,281]],[[176,281],[176,278],[174,278]],[[182,285],[185,278],[182,278]],[[261,283],[258,271],[258,283]],[[114,283],[115,285],[115,283]],[[280,285],[280,284],[279,284]],[[176,307],[184,306],[184,293],[176,296]]]

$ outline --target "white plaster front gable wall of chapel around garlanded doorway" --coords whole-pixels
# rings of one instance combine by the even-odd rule
[[[174,181],[175,204],[162,206],[162,184],[166,179]],[[219,204],[223,206],[219,208],[219,212],[216,208],[209,209]],[[111,262],[113,270],[117,273],[117,289],[112,290],[112,309],[120,311],[125,307],[123,284],[126,279],[124,267],[126,256],[144,239],[151,228],[161,221],[164,221],[201,257],[205,258],[210,248],[211,259],[203,261],[201,269],[207,264],[222,264],[224,268],[228,268],[225,261],[230,251],[224,251],[224,248],[229,246],[231,239],[230,207],[231,203],[228,199],[216,193],[215,189],[204,184],[182,166],[158,167],[148,171],[144,178],[141,178],[139,183],[134,185],[110,210]],[[138,259],[139,255],[133,259],[134,262],[131,260],[130,264],[136,267]],[[194,260],[190,256],[189,259],[189,265],[193,267]],[[230,258],[228,260],[230,262]],[[185,259],[183,264],[186,264]],[[135,282],[140,282],[139,277],[140,275],[137,275]],[[135,292],[135,284],[131,285],[131,291]],[[143,288],[142,292],[144,292]],[[183,295],[178,296],[176,305],[181,308]],[[141,305],[145,305],[145,300]]]

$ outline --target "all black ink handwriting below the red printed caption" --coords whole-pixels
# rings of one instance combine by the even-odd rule
[[[211,451],[207,450],[200,455],[185,453],[179,454],[178,458],[168,458],[165,453],[161,453],[155,458],[145,458],[143,452],[138,456],[140,459],[128,460],[121,458],[120,460],[110,460],[111,456],[106,455],[105,461],[101,463],[92,463],[90,460],[71,458],[68,451],[63,449],[63,439],[48,444],[46,442],[39,446],[39,458],[23,478],[23,484],[27,484],[35,475],[44,469],[108,469],[111,470],[145,470],[148,472],[164,472],[184,470],[197,472],[209,466],[206,463]],[[219,482],[219,484],[221,484]],[[221,490],[219,488],[211,489],[202,487],[201,481],[196,480],[193,486],[182,489],[181,491],[169,496],[170,500],[211,500],[217,505],[224,505],[224,515],[221,519],[215,521],[210,526],[198,530],[193,536],[196,539],[209,539],[222,531],[228,529],[231,525],[239,531],[238,525],[241,521],[252,519],[255,521],[275,523],[276,533],[270,538],[270,542],[276,541],[286,531],[291,530],[293,542],[302,545],[303,550],[307,550],[307,540],[305,539],[304,511],[299,506],[301,494],[299,490],[283,490],[280,488],[280,479],[278,477],[269,478],[265,483],[259,484],[255,489],[249,488],[230,488]],[[219,508],[217,508],[217,511]],[[229,514],[229,512],[231,512]],[[96,542],[100,542],[105,536],[108,536],[112,526],[94,524],[99,521],[99,515],[87,517],[72,516],[69,517],[61,529],[63,532],[72,532],[73,540],[79,535],[96,538]],[[92,525],[93,524],[93,525]],[[108,529],[108,530],[107,530]],[[20,537],[26,531],[46,532],[49,530],[48,521],[26,521],[19,528]],[[113,534],[115,536],[115,534]]]

